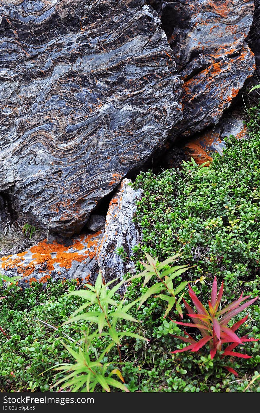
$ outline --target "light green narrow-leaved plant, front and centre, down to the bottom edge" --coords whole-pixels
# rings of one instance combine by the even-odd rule
[[[130,278],[128,282],[131,281],[131,279],[133,278]],[[125,304],[123,299],[119,302],[115,301],[115,299],[113,299],[114,294],[126,280],[118,282],[114,287],[109,289],[108,287],[114,284],[115,281],[117,280],[112,280],[104,284],[101,273],[99,273],[94,286],[86,284],[85,287],[87,290],[73,291],[70,293],[71,295],[82,297],[86,303],[80,306],[64,324],[73,323],[77,320],[86,320],[91,323],[91,327],[88,328],[84,338],[84,344],[79,351],[76,352],[66,346],[66,349],[75,358],[76,363],[66,363],[56,368],[56,370],[69,373],[67,377],[59,380],[56,385],[62,383],[64,388],[69,387],[73,392],[79,390],[81,392],[94,392],[98,385],[106,392],[110,392],[110,386],[129,392],[129,389],[123,383],[111,377],[112,375],[117,375],[120,380],[124,382],[122,373],[118,368],[113,368],[112,371],[109,371],[111,363],[105,362],[105,356],[110,352],[112,347],[116,346],[119,363],[122,363],[120,351],[122,337],[134,337],[139,340],[147,339],[134,332],[118,330],[118,320],[129,320],[134,323],[137,321],[128,313],[129,309],[136,304],[136,300],[128,304]],[[95,304],[98,306],[98,311],[89,310],[89,307]],[[88,309],[88,311],[82,312],[85,309]],[[79,312],[80,314],[78,314]],[[96,327],[93,328],[93,325]],[[94,342],[102,337],[109,338],[109,344],[105,346],[103,351],[99,352],[98,348],[94,346]],[[95,354],[94,361],[89,357],[89,349]]]

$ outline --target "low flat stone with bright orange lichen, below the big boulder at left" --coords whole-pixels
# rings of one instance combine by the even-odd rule
[[[49,237],[28,251],[0,259],[1,273],[8,277],[21,276],[24,288],[32,282],[45,284],[49,279],[94,283],[98,272],[96,252],[103,233],[80,235],[74,239]]]

